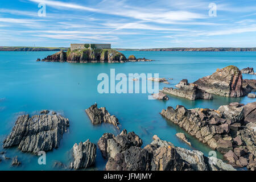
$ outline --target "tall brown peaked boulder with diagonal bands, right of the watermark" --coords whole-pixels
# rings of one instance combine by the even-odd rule
[[[242,88],[241,71],[230,65],[228,67],[217,69],[210,76],[200,78],[194,84],[205,92],[217,94],[225,97],[242,97],[245,96],[245,90]]]

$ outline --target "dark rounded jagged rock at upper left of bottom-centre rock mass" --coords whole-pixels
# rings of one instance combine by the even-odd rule
[[[116,154],[121,153],[131,146],[141,147],[142,140],[134,132],[127,133],[126,130],[123,130],[116,137],[113,134],[105,133],[98,140],[98,147],[104,158],[114,158]]]

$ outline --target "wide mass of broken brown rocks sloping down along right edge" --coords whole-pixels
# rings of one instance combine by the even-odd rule
[[[235,102],[220,106],[218,110],[188,110],[177,105],[176,109],[168,107],[161,114],[201,142],[225,154],[233,166],[254,170],[256,140],[253,122],[256,118],[253,117],[255,113],[250,115],[254,109],[255,103],[243,106]]]

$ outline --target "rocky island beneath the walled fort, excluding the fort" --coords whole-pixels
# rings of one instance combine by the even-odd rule
[[[46,62],[68,62],[68,63],[124,63],[135,61],[152,61],[148,59],[136,59],[135,56],[126,59],[125,55],[114,49],[81,49],[67,52],[61,50],[53,55],[42,59]]]

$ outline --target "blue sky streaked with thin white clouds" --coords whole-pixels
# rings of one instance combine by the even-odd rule
[[[0,1],[0,46],[256,47],[256,1]]]

